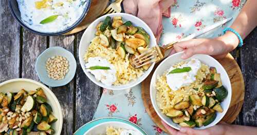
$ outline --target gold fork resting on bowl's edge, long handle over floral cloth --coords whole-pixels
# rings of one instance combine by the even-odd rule
[[[181,42],[181,41],[188,41],[188,40],[191,40],[192,38],[195,38],[199,35],[202,35],[202,34],[205,34],[207,32],[209,32],[210,30],[213,30],[215,28],[217,28],[218,26],[221,26],[225,23],[227,23],[228,21],[232,20],[232,17],[229,17],[229,18],[226,18],[225,20],[223,21],[220,21],[216,24],[213,24],[201,31],[197,31],[193,34],[190,34],[189,36],[185,37],[185,38],[182,38],[181,40],[179,41],[175,41],[175,42],[172,42],[164,47],[159,47],[159,46],[155,46],[155,47],[152,47],[148,50],[146,50],[145,52],[143,52],[142,54],[140,54],[139,56],[135,57],[131,63],[131,65],[134,67],[134,68],[140,68],[144,65],[148,65],[148,64],[151,64],[151,63],[154,63],[154,62],[159,62],[161,61],[162,59],[164,59],[165,57],[168,56],[168,54],[166,52],[168,52],[167,50],[169,49],[172,49],[173,48],[173,45],[177,42]]]

